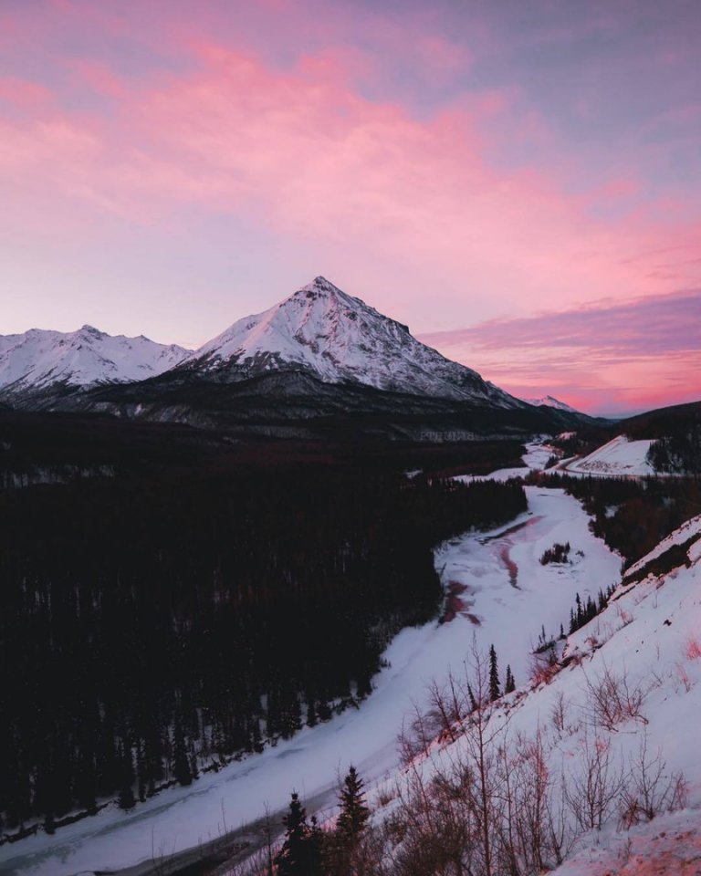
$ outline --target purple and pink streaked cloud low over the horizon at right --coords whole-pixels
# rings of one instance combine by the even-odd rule
[[[518,395],[614,412],[701,399],[701,289],[424,334]]]

